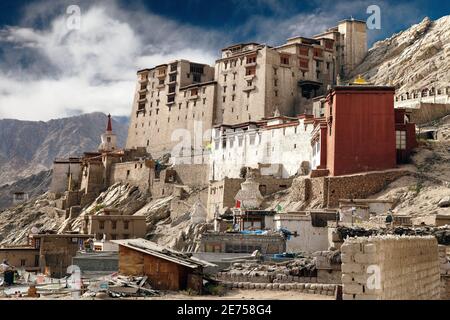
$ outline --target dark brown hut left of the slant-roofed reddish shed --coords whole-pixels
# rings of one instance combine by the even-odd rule
[[[32,234],[29,244],[39,249],[39,267],[51,277],[63,277],[72,258],[92,238],[90,234]]]

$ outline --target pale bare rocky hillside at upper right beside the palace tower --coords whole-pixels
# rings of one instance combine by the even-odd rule
[[[394,85],[398,93],[450,85],[450,16],[419,24],[376,42],[350,75],[378,85]]]

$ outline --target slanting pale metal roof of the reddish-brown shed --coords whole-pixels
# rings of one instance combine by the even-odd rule
[[[216,266],[215,264],[209,263],[208,261],[200,260],[195,257],[190,257],[185,253],[175,251],[166,247],[162,247],[154,242],[145,239],[112,240],[111,242],[192,269],[196,269],[198,267]]]

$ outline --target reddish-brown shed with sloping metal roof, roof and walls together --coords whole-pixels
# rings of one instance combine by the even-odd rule
[[[153,289],[201,292],[207,261],[167,249],[144,239],[114,240],[119,245],[119,273],[147,276]]]

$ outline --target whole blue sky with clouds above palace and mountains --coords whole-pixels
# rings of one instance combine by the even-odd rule
[[[0,119],[129,116],[139,69],[213,65],[230,44],[313,36],[345,18],[367,20],[370,5],[381,29],[368,30],[369,46],[450,14],[448,0],[2,0]]]

